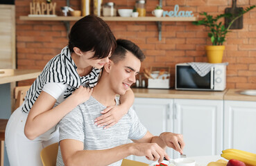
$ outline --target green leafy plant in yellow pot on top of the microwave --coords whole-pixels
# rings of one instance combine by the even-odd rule
[[[207,59],[210,63],[221,63],[223,57],[223,50],[225,50],[225,46],[223,46],[223,42],[225,42],[225,35],[230,32],[230,26],[236,21],[239,17],[244,15],[246,12],[252,10],[255,6],[250,6],[246,9],[241,10],[237,15],[232,15],[231,13],[225,13],[221,15],[217,15],[213,17],[209,15],[207,12],[201,12],[200,15],[203,15],[204,18],[198,21],[194,21],[193,24],[196,26],[204,25],[209,28],[208,37],[212,42],[212,46],[205,46],[205,50],[207,53]],[[219,21],[221,18],[228,18],[230,22],[228,26],[225,27],[222,21]]]

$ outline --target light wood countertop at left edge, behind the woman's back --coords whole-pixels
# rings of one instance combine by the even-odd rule
[[[40,73],[40,70],[0,69],[0,84],[33,79]]]

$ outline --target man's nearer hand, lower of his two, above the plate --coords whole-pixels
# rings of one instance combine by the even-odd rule
[[[135,143],[133,144],[133,148],[133,155],[135,156],[146,156],[148,160],[158,160],[158,163],[161,163],[164,157],[167,160],[171,160],[166,151],[157,145],[157,143]]]

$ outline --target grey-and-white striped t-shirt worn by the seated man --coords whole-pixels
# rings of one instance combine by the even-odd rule
[[[116,102],[119,104],[119,98],[116,98]],[[94,120],[102,115],[101,111],[105,108],[92,96],[83,104],[78,105],[60,120],[60,140],[80,140],[84,143],[84,150],[96,150],[110,149],[126,144],[128,139],[138,140],[145,136],[147,129],[139,121],[132,108],[117,124],[108,129],[94,125]],[[122,160],[119,160],[116,163],[112,163],[111,166],[120,166],[121,162]],[[64,165],[60,147],[56,165]]]

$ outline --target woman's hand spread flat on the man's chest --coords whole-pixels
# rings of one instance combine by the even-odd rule
[[[94,124],[99,127],[105,126],[104,129],[112,127],[127,113],[127,111],[124,113],[121,108],[121,105],[107,107],[104,111],[101,111],[103,115],[94,120]]]

